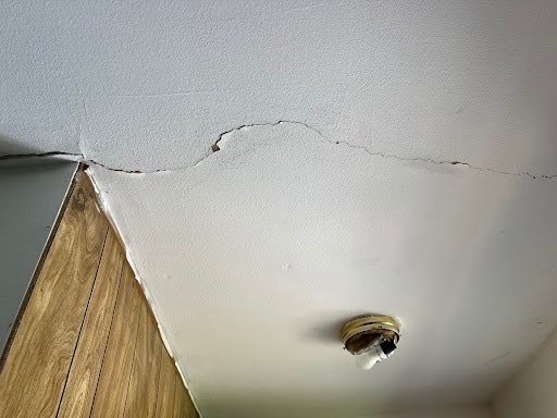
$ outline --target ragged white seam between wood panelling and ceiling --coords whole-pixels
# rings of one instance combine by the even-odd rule
[[[152,312],[152,315],[154,317],[154,321],[157,322],[157,328],[159,329],[159,334],[161,335],[162,343],[163,343],[164,347],[166,348],[166,352],[169,353],[169,355],[174,360],[174,366],[176,367],[176,369],[178,371],[178,374],[180,374],[180,377],[182,379],[182,382],[184,383],[184,388],[186,388],[186,390],[189,393],[189,398],[191,399],[191,403],[194,404],[199,418],[202,418],[201,411],[200,411],[200,409],[199,409],[199,407],[197,405],[196,399],[194,398],[194,394],[191,393],[191,390],[189,389],[189,384],[186,381],[186,377],[184,374],[184,371],[182,370],[182,367],[180,366],[178,361],[176,360],[176,357],[175,357],[173,351],[171,349],[170,342],[169,342],[169,340],[166,337],[166,333],[164,332],[164,330],[163,330],[163,328],[161,325],[161,321],[159,320],[159,315],[158,315],[157,309],[156,309],[154,300],[151,297],[151,294],[145,287],[140,276],[139,276],[137,267],[135,266],[135,263],[134,263],[134,261],[133,261],[133,259],[132,259],[132,257],[129,255],[129,251],[127,249],[127,245],[125,245],[124,237],[123,237],[122,233],[120,232],[120,230],[117,229],[116,223],[114,221],[114,218],[111,216],[111,212],[110,212],[110,209],[109,209],[109,204],[104,199],[104,197],[102,196],[102,192],[101,192],[99,185],[97,184],[97,182],[95,181],[95,176],[92,175],[91,170],[90,169],[85,170],[85,174],[87,174],[89,176],[89,179],[90,179],[90,181],[92,183],[92,187],[95,188],[95,193],[97,195],[97,201],[99,204],[100,210],[102,211],[102,213],[104,213],[104,216],[109,220],[109,223],[112,226],[112,230],[114,231],[114,233],[119,237],[122,246],[124,247],[124,251],[125,251],[125,255],[126,255],[126,261],[129,265],[129,267],[132,268],[132,271],[134,272],[135,280],[139,284],[139,287],[141,288],[141,291],[143,291],[143,293],[145,295],[145,298],[146,298],[147,303],[149,304],[149,307],[151,308],[151,312]]]

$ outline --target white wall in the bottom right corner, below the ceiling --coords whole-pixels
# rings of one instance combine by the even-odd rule
[[[557,417],[557,329],[495,396],[496,418]]]

